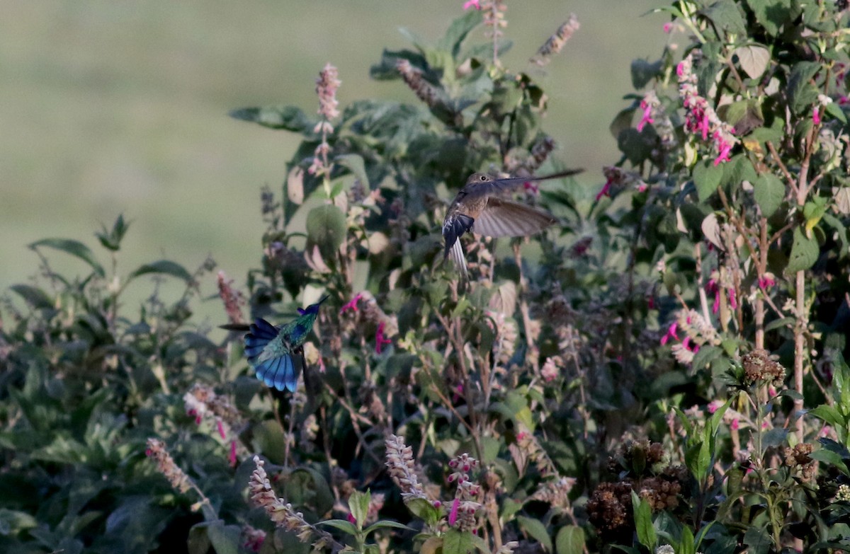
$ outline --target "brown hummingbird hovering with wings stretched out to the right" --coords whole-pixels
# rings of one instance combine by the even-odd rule
[[[461,246],[461,235],[467,231],[486,236],[534,235],[556,219],[544,212],[519,202],[507,200],[506,196],[526,183],[546,179],[568,177],[583,172],[583,169],[568,169],[542,177],[495,178],[488,173],[473,173],[467,184],[460,189],[445,213],[443,238],[445,254],[467,277],[467,262]]]

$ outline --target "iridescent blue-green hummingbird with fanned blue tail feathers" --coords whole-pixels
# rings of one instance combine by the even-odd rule
[[[245,355],[257,378],[267,387],[279,391],[295,392],[298,375],[292,360],[293,354],[300,354],[303,363],[303,344],[313,329],[319,306],[328,297],[307,308],[298,308],[300,316],[286,325],[275,326],[262,318],[257,318],[248,327],[245,336]],[[242,331],[244,325],[222,325],[230,331]]]

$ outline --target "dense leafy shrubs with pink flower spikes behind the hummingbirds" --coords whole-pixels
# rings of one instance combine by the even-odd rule
[[[232,113],[303,135],[263,189],[259,267],[216,281],[230,328],[330,295],[296,393],[190,323],[212,263],[122,276],[122,218],[98,234],[111,274],[76,240],[32,245],[46,284],[13,287],[0,327],[4,551],[850,548],[845,7],[660,8],[670,42],[632,64],[595,201],[527,187],[560,224],[464,237],[468,283],[437,232],[467,175],[576,164],[501,63],[507,3],[464,8],[371,68],[409,104],[340,107],[327,65],[318,116]],[[130,316],[146,274],[185,292]]]

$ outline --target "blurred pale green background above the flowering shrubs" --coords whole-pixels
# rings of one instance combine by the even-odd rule
[[[415,102],[399,82],[372,82],[382,48],[407,46],[406,27],[434,41],[462,0],[7,0],[0,20],[0,290],[37,273],[26,248],[74,238],[103,252],[94,231],[132,222],[119,271],[168,257],[190,271],[207,254],[245,280],[258,265],[259,189],[277,189],[297,137],[237,122],[228,110],[293,104],[315,110],[314,81],[337,65],[341,105],[368,97]],[[661,0],[507,2],[511,69],[566,20],[581,29],[544,70],[555,156],[600,169],[618,159],[609,122],[632,90],[629,63],[656,59]],[[472,38],[483,40],[483,30]],[[104,252],[105,254],[105,252]],[[59,269],[82,263],[57,253]],[[104,263],[107,257],[103,256]],[[214,278],[202,284],[215,291]],[[146,287],[139,287],[146,289]],[[220,314],[207,302],[201,313]]]

